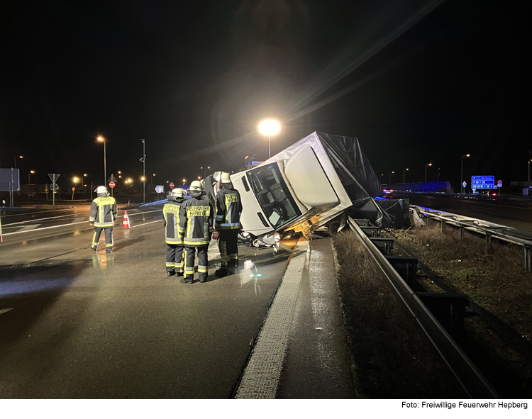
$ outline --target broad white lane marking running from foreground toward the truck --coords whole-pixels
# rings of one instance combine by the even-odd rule
[[[301,252],[299,247],[306,247]],[[296,306],[299,282],[309,254],[309,242],[298,242],[282,284],[262,325],[235,398],[275,398]]]

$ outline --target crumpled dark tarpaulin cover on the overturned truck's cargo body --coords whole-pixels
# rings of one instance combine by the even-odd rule
[[[380,228],[392,224],[374,197],[382,193],[379,178],[356,137],[317,133],[353,206],[346,210],[355,218],[367,218]]]

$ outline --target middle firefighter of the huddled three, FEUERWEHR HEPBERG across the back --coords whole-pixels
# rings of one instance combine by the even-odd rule
[[[205,282],[209,272],[207,265],[207,250],[213,232],[214,207],[205,198],[203,186],[200,181],[190,184],[189,192],[192,195],[187,199],[179,211],[179,235],[183,238],[184,245],[184,278],[182,284],[194,282],[194,259],[198,251],[198,276],[200,282]]]

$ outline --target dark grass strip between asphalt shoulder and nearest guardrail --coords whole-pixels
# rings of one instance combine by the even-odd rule
[[[426,339],[395,300],[354,233],[333,238],[358,391],[368,398],[463,398]]]

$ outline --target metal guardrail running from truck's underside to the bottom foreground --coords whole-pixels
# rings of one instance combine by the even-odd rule
[[[364,220],[366,221],[366,220]],[[404,281],[399,273],[392,267],[387,257],[372,242],[371,238],[355,222],[353,218],[346,219],[350,228],[358,234],[358,238],[372,255],[379,269],[388,279],[388,283],[395,296],[404,304],[414,322],[428,337],[436,348],[440,357],[453,372],[456,379],[471,398],[500,398],[482,373],[475,367],[467,354],[462,351],[448,332],[440,325],[428,308],[422,303],[415,291]],[[366,224],[368,225],[368,224]]]

